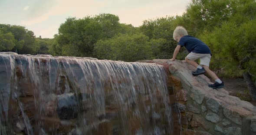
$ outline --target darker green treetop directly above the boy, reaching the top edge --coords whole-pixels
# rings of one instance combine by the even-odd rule
[[[187,8],[186,23],[193,29],[194,36],[204,30],[221,26],[233,14],[232,0],[192,0]]]

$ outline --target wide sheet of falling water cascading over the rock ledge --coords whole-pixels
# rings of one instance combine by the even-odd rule
[[[0,54],[1,135],[179,135],[158,64]]]

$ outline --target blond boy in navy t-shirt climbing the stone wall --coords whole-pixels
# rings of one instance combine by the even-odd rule
[[[185,58],[185,61],[194,67],[197,67],[196,71],[192,71],[194,76],[204,74],[210,75],[213,80],[215,80],[214,84],[209,84],[208,86],[213,89],[219,89],[224,87],[224,83],[217,77],[217,75],[209,69],[211,51],[210,48],[200,41],[199,39],[190,36],[187,34],[187,30],[182,26],[177,26],[173,33],[173,38],[178,42],[177,47],[174,50],[173,58],[171,61],[175,61],[178,52],[181,47],[185,47],[189,54]],[[195,62],[195,60],[200,58],[200,65]],[[185,62],[183,61],[183,62]]]

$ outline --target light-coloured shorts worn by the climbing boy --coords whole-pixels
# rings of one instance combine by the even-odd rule
[[[190,52],[187,55],[187,58],[191,61],[195,61],[195,60],[200,58],[200,65],[206,65],[206,66],[209,67],[210,60],[211,60],[211,55],[210,54],[199,54],[199,53]]]

